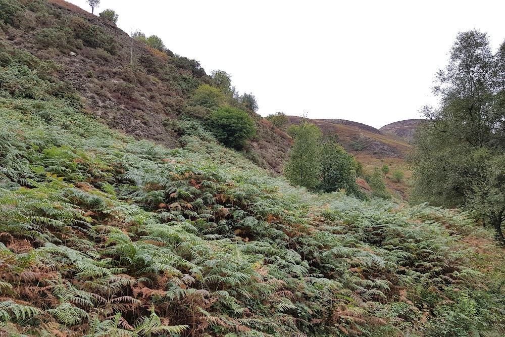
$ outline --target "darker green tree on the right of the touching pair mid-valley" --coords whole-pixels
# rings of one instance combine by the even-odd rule
[[[321,153],[321,182],[318,188],[324,192],[345,189],[346,194],[364,198],[365,194],[356,183],[354,157],[335,140],[325,141]]]

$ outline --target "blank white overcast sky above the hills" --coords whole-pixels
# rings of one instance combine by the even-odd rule
[[[89,12],[86,0],[70,0]],[[276,112],[374,127],[421,118],[458,32],[505,39],[505,2],[101,0],[118,27],[158,35],[208,74],[224,70]]]

